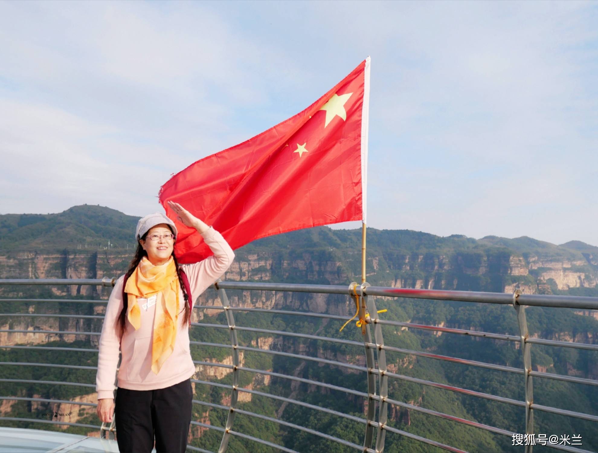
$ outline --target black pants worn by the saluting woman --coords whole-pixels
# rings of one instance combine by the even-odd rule
[[[191,381],[157,390],[117,388],[115,424],[121,453],[183,453],[191,422]]]

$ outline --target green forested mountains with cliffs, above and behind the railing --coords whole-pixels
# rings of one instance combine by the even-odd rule
[[[25,217],[23,217],[25,216]],[[105,217],[105,218],[103,218]],[[127,216],[113,209],[100,206],[74,206],[60,214],[1,215],[0,216],[0,278],[102,278],[124,272],[132,257],[135,245],[132,237],[138,218]],[[60,229],[60,234],[54,230]],[[6,235],[5,230],[10,230]],[[7,239],[8,236],[12,238]],[[118,239],[120,238],[120,239]],[[18,239],[18,241],[17,241]],[[108,240],[111,247],[108,248]],[[54,244],[53,241],[57,241]],[[94,242],[95,241],[95,242]],[[84,246],[87,244],[87,248]],[[127,245],[129,249],[127,250]],[[595,248],[595,247],[594,247]],[[477,291],[506,291],[511,293],[518,285],[526,293],[584,294],[597,296],[598,272],[593,257],[593,246],[568,242],[554,245],[522,237],[515,239],[487,236],[482,239],[462,235],[447,237],[410,230],[368,229],[368,282],[373,285],[411,288],[445,288]],[[254,241],[236,251],[236,259],[223,277],[236,281],[271,281],[292,283],[320,283],[348,285],[359,281],[361,273],[361,231],[332,230],[328,227],[298,230],[283,235]],[[103,298],[110,288],[92,287],[0,287],[2,297],[48,298]],[[271,291],[227,291],[231,304],[240,307],[264,309],[327,312],[328,314],[353,315],[354,306],[343,295],[273,293]],[[197,301],[199,305],[219,306],[218,296],[208,290]],[[518,335],[517,318],[511,306],[475,304],[466,302],[441,302],[432,300],[377,298],[379,309],[387,308],[382,316],[387,320],[484,330],[486,332]],[[68,303],[13,303],[0,302],[2,312],[36,312],[60,314],[101,314],[105,305]],[[598,342],[598,320],[594,312],[563,309],[527,309],[530,335],[539,338]],[[338,332],[342,323],[327,318],[264,314],[254,312],[234,313],[237,326],[257,329],[303,332],[332,338],[362,340],[361,330],[349,324]],[[226,324],[224,314],[217,309],[197,309],[193,321],[207,324]],[[5,320],[3,329],[63,330],[70,332],[99,332],[101,320],[72,318],[13,317]],[[500,342],[448,333],[420,332],[404,327],[383,326],[386,345],[396,348],[451,355],[468,360],[486,361],[507,366],[522,366],[518,343]],[[364,365],[363,347],[329,344],[317,340],[288,338],[267,333],[239,331],[242,345],[260,349],[294,352],[331,360]],[[195,327],[191,339],[210,343],[230,343],[224,329]],[[97,347],[97,336],[29,333],[0,333],[2,344],[41,344]],[[86,352],[28,351],[23,349],[3,351],[0,361],[51,361],[63,364],[97,364],[97,356]],[[194,360],[218,361],[231,364],[230,348],[192,346]],[[534,370],[556,372],[563,375],[598,379],[598,366],[594,351],[569,348],[549,348],[534,345],[532,367]],[[365,376],[354,370],[322,366],[286,357],[257,352],[241,354],[243,366],[254,369],[286,373],[301,378],[315,379],[340,387],[365,390]],[[388,352],[389,370],[400,375],[443,382],[449,385],[483,391],[500,396],[523,399],[523,378],[520,375],[494,370],[466,367],[432,358]],[[231,384],[230,369],[197,366],[196,378]],[[47,367],[4,366],[2,378],[44,379],[50,381],[94,382],[94,372]],[[359,417],[364,416],[364,401],[359,397],[340,394],[313,385],[289,383],[288,380],[253,375],[243,372],[240,386],[266,393],[277,394],[321,405],[335,411]],[[535,397],[540,404],[595,413],[592,402],[598,400],[598,388],[570,382],[534,379]],[[7,395],[51,397],[54,399],[79,399],[93,401],[88,388],[53,387],[35,384],[11,383],[5,385]],[[197,400],[226,406],[230,391],[197,384]],[[475,399],[411,382],[389,381],[389,397],[426,409],[457,415],[467,419],[522,432],[523,409],[515,406]],[[44,405],[45,406],[42,406]],[[5,416],[35,417],[37,412],[56,411],[48,403],[7,402],[0,408]],[[306,425],[315,430],[332,434],[352,442],[361,443],[363,425],[296,405],[286,405],[255,394],[240,393],[240,408],[258,412],[285,421]],[[69,412],[63,408],[58,412]],[[75,412],[79,408],[75,408]],[[93,408],[92,408],[93,409]],[[79,411],[77,421],[97,424],[93,410]],[[223,426],[226,411],[194,406],[194,419],[207,424]],[[74,419],[69,419],[74,421]],[[389,424],[401,430],[448,443],[468,451],[518,451],[511,446],[511,439],[493,436],[461,424],[434,418],[407,409],[389,409]],[[20,426],[23,426],[22,424]],[[31,427],[39,428],[32,424]],[[237,416],[234,429],[285,445],[301,452],[350,451],[339,448],[327,440],[298,433],[290,428],[246,416]],[[69,428],[85,434],[86,428]],[[591,422],[553,416],[536,412],[536,433],[582,434],[584,448],[598,447],[598,431]],[[220,434],[193,426],[189,442],[194,446],[216,451]],[[386,452],[435,451],[427,445],[416,443],[396,434],[388,434]],[[270,451],[255,446],[255,451]],[[536,448],[535,448],[536,449]],[[242,440],[233,437],[230,451],[248,451]],[[538,451],[542,451],[541,447]]]

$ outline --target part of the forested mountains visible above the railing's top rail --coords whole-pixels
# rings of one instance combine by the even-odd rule
[[[138,220],[91,205],[59,214],[0,215],[0,278],[120,275],[136,247]],[[359,230],[298,230],[237,250],[236,270],[227,278],[340,284],[359,278],[360,253]],[[579,241],[554,245],[527,236],[476,240],[370,228],[367,255],[368,281],[393,287],[590,295],[598,282],[598,247]]]

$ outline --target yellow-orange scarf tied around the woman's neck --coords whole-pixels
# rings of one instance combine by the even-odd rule
[[[167,263],[154,266],[143,257],[135,272],[127,279],[124,290],[128,294],[127,319],[141,327],[141,309],[138,297],[157,296],[154,316],[154,338],[151,349],[151,369],[158,374],[164,361],[175,349],[176,326],[179,313],[179,279],[172,256]]]

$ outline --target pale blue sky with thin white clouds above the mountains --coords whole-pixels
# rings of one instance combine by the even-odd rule
[[[369,226],[598,245],[596,23],[572,1],[0,2],[0,212],[156,211],[171,174],[370,55]]]

